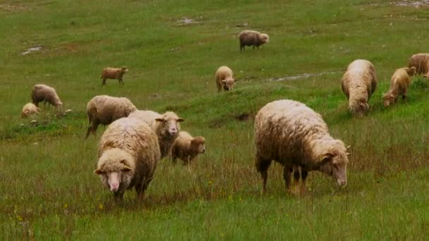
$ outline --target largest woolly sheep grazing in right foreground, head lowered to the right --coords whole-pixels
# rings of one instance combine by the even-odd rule
[[[301,193],[306,189],[308,171],[321,171],[333,176],[337,184],[347,184],[346,166],[349,162],[341,140],[331,137],[320,114],[298,101],[272,101],[255,116],[255,166],[262,177],[262,193],[266,192],[267,170],[272,160],[284,166],[286,189],[291,192],[291,172],[294,188],[299,181]]]

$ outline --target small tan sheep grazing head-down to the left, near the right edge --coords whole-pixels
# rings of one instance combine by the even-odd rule
[[[416,74],[416,67],[398,68],[390,79],[390,89],[382,97],[385,107],[396,103],[398,96],[406,100],[406,90],[411,83],[411,76]]]

